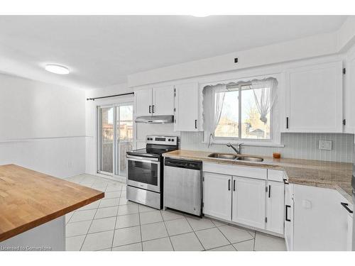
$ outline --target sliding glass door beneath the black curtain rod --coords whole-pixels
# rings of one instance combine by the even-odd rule
[[[125,176],[126,152],[133,143],[133,104],[99,107],[98,117],[98,172]]]

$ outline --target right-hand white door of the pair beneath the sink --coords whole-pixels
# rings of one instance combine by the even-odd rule
[[[232,221],[265,229],[266,181],[233,177]]]

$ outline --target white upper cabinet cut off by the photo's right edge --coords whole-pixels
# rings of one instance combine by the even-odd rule
[[[346,62],[345,79],[345,132],[355,133],[355,52]]]

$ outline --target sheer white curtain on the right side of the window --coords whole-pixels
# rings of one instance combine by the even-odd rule
[[[278,81],[274,78],[254,79],[251,81],[256,108],[260,113],[260,120],[263,123],[268,122],[268,113],[273,108],[277,93]]]

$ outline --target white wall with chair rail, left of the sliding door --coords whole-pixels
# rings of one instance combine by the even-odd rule
[[[84,173],[84,97],[82,89],[0,74],[0,165]]]

